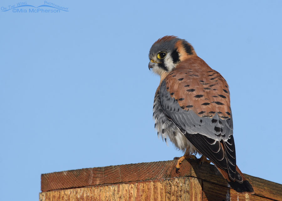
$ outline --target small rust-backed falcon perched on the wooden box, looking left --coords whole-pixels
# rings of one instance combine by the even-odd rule
[[[237,192],[253,193],[236,165],[230,96],[226,80],[199,58],[187,41],[175,36],[158,39],[150,49],[149,69],[160,75],[154,98],[155,128],[185,151],[202,154],[215,164]],[[207,160],[209,158],[210,160]]]

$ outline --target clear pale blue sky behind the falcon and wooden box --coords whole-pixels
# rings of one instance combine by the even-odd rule
[[[148,53],[165,35],[227,80],[242,172],[282,183],[281,1],[49,2],[69,12],[0,10],[3,200],[38,200],[42,173],[182,155],[152,117]]]

